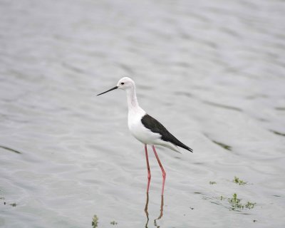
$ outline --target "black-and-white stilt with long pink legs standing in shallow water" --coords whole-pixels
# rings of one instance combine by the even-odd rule
[[[121,78],[118,82],[117,86],[107,90],[103,93],[110,92],[111,90],[122,89],[127,92],[127,101],[128,101],[128,128],[130,129],[130,133],[142,142],[145,145],[145,157],[147,161],[147,192],[150,188],[150,165],[148,162],[147,155],[147,145],[152,146],[152,150],[155,153],[155,157],[157,159],[158,164],[162,170],[162,195],[165,187],[165,177],[166,173],[160,159],[155,150],[155,145],[162,145],[164,147],[170,148],[171,150],[175,150],[179,152],[178,147],[182,147],[185,150],[189,150],[193,152],[190,147],[177,140],[175,136],[173,136],[160,122],[152,118],[148,115],[145,110],[140,108],[138,105],[137,95],[135,93],[135,82],[128,77]],[[98,95],[102,95],[100,93]]]

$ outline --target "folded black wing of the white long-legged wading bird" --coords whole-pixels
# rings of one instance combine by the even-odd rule
[[[145,126],[145,128],[150,129],[152,133],[159,133],[162,140],[172,142],[174,145],[193,152],[190,147],[187,147],[187,145],[180,142],[180,140],[177,140],[177,138],[175,138],[161,123],[155,120],[155,118],[152,118],[150,115],[145,114],[142,117],[142,124]]]

